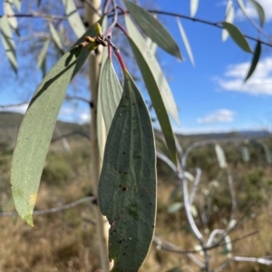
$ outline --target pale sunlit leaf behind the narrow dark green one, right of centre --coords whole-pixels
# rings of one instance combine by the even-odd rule
[[[150,67],[151,73],[159,87],[161,98],[164,102],[166,111],[170,113],[171,117],[179,124],[179,112],[177,104],[173,98],[170,86],[160,68],[156,57],[151,53],[148,44],[146,44],[145,39],[142,37],[136,26],[132,23],[131,18],[125,15],[125,23],[128,30],[128,34],[133,40],[134,44],[138,47],[138,51],[141,52],[142,57],[145,60],[145,63]],[[138,61],[136,59],[136,61]],[[141,68],[140,68],[141,69]],[[148,88],[148,86],[147,86]],[[150,91],[149,91],[150,92]]]

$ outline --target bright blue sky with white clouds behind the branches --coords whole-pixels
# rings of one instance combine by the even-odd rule
[[[227,1],[226,1],[227,2]],[[199,0],[196,17],[220,22],[224,20],[226,2]],[[248,15],[258,23],[254,8],[246,3]],[[265,31],[272,29],[272,2],[258,0],[265,7]],[[144,3],[144,1],[141,1]],[[154,2],[155,3],[155,2]],[[161,10],[189,15],[189,0],[156,1]],[[223,43],[221,30],[216,27],[181,19],[194,55],[195,67],[189,62],[182,43],[176,18],[159,16],[180,45],[185,62],[174,59],[160,49],[157,55],[169,80],[170,88],[179,107],[180,127],[172,122],[175,131],[182,133],[241,131],[270,129],[272,124],[272,48],[264,46],[262,58],[253,76],[244,84],[252,55],[244,53],[228,37]],[[257,31],[236,10],[235,24],[244,34],[257,37]],[[271,32],[270,32],[271,34]],[[265,39],[263,36],[262,39]],[[255,43],[249,43],[254,49]],[[0,47],[0,56],[4,56]],[[7,64],[8,65],[8,64]],[[12,71],[10,71],[12,73]],[[37,74],[35,83],[41,80]],[[16,85],[16,83],[14,83]],[[12,89],[12,87],[10,86]],[[34,92],[34,83],[31,84]],[[7,95],[8,93],[8,95]],[[83,92],[88,98],[88,92]],[[0,104],[23,102],[28,98],[21,92],[0,92]],[[19,107],[16,111],[26,109]],[[90,112],[82,102],[65,102],[60,112],[63,121],[88,121]]]

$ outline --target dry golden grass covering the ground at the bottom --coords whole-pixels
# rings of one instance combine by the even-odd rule
[[[70,160],[68,158],[68,160]],[[49,209],[70,203],[88,195],[89,173],[86,164],[77,159],[72,164],[73,180],[67,184],[42,182],[35,209]],[[74,162],[73,162],[74,163]],[[168,214],[169,196],[174,186],[165,179],[159,180],[158,215],[156,236],[168,240],[182,249],[194,249],[198,244],[189,232],[189,226],[182,210]],[[3,199],[8,199],[8,193]],[[272,201],[265,208],[257,208],[257,216],[249,217],[242,226],[230,234],[231,238],[240,238],[259,230],[255,236],[239,240],[233,244],[233,255],[240,257],[263,257],[272,255],[271,210]],[[10,208],[12,209],[12,207]],[[238,213],[239,219],[242,213]],[[94,226],[84,219],[92,219],[91,205],[83,204],[73,209],[54,214],[35,216],[34,228],[24,225],[20,219],[0,218],[0,271],[6,272],[99,272],[99,260],[95,240]],[[209,226],[226,228],[221,220],[215,217]],[[200,228],[204,233],[204,229]],[[208,238],[208,235],[206,235]],[[210,251],[211,267],[219,267],[228,257],[222,255],[222,248]],[[199,254],[195,255],[202,259]],[[151,246],[148,257],[141,267],[141,272],[163,272],[172,267],[186,267],[199,271],[199,267],[189,257],[176,253],[158,250]],[[256,263],[231,263],[223,271],[264,272],[272,271],[271,267]]]

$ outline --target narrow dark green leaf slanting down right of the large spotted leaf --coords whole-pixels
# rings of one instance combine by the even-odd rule
[[[125,20],[126,20],[127,28],[129,29],[129,27],[131,27],[131,25],[133,24],[130,24],[131,21],[129,17],[125,16]],[[151,102],[157,114],[158,120],[160,122],[161,131],[164,135],[165,141],[170,151],[171,160],[177,165],[178,160],[177,160],[176,143],[175,143],[173,131],[170,125],[169,116],[166,112],[164,102],[162,100],[163,92],[160,92],[160,89],[158,86],[159,84],[156,82],[156,79],[155,79],[156,77],[152,73],[151,68],[153,68],[154,66],[149,66],[151,65],[151,62],[150,62],[151,58],[148,59],[147,58],[148,52],[145,53],[146,43],[145,41],[143,43],[139,43],[140,40],[138,40],[137,38],[137,35],[136,35],[137,33],[132,30],[133,28],[129,29],[129,34],[131,36],[128,36],[129,42],[131,44],[131,49],[138,63],[138,66],[141,70],[143,81],[147,87],[148,92],[150,93]],[[141,47],[138,47],[139,46],[138,44]],[[151,56],[151,54],[149,55]],[[152,63],[152,65],[153,64],[154,63]]]

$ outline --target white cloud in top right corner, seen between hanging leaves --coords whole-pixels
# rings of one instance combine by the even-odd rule
[[[257,0],[257,2],[264,8],[265,14],[266,14],[266,21],[272,20],[272,1],[271,0]],[[246,6],[246,13],[249,17],[258,19],[256,8],[251,5],[249,1],[245,3]],[[245,15],[241,12],[240,9],[238,9],[238,12],[235,15],[235,18],[243,21],[246,20]]]

